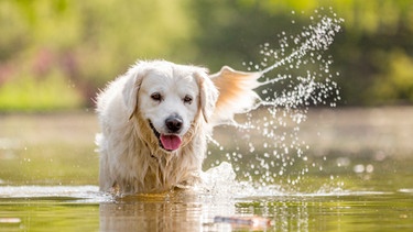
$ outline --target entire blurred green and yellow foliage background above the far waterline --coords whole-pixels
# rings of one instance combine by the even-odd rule
[[[343,103],[412,103],[404,66],[413,56],[410,0],[17,0],[0,1],[7,32],[0,36],[0,110],[90,107],[98,88],[137,59],[242,69],[242,62],[260,60],[260,45],[276,45],[276,34],[298,32],[308,15],[329,7],[345,19],[328,51],[341,73]],[[24,93],[31,88],[48,89],[43,103],[22,100],[33,96]]]

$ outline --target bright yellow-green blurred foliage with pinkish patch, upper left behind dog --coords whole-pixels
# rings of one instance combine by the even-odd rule
[[[183,0],[0,1],[0,27],[8,31],[0,38],[0,91],[58,69],[61,82],[76,85],[90,106],[97,88],[138,58],[188,60],[195,49],[185,4]],[[0,102],[11,99],[2,92]]]

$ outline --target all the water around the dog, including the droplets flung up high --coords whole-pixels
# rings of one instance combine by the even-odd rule
[[[412,231],[413,109],[308,110],[339,100],[324,54],[335,19],[311,18],[246,64],[263,75],[264,107],[237,117],[244,126],[215,131],[205,162],[214,168],[193,189],[99,192],[93,113],[0,115],[0,231]]]

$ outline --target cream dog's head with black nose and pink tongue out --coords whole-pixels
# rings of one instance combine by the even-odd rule
[[[123,99],[130,119],[150,129],[143,135],[167,152],[188,143],[194,123],[202,114],[211,117],[218,90],[205,68],[169,62],[140,62],[127,74]],[[150,137],[152,140],[150,140]],[[155,139],[154,139],[155,137]],[[146,141],[148,142],[148,141]]]

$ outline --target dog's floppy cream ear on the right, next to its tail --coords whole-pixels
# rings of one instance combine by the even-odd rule
[[[219,92],[207,75],[206,69],[202,69],[195,75],[199,87],[199,107],[205,121],[208,122],[213,117]]]

